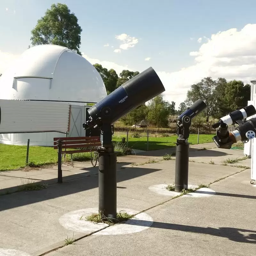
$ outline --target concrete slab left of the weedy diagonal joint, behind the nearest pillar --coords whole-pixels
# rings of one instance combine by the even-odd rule
[[[174,167],[175,161],[169,160],[120,169],[117,172],[117,206],[141,211],[171,199],[172,196],[153,193],[148,187],[173,182]],[[209,164],[200,163],[189,163],[189,168],[189,183],[196,185],[210,183],[237,171],[235,167],[213,165],[209,168]],[[98,176],[53,184],[39,191],[0,196],[0,248],[35,255],[38,251],[45,252],[60,241],[63,243],[67,236],[73,236],[71,230],[59,223],[64,213],[92,207],[98,207]]]

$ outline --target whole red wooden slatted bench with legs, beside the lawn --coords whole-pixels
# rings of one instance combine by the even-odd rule
[[[72,163],[72,167],[74,167],[73,158],[72,158],[73,154],[97,151],[97,148],[101,146],[101,141],[100,141],[100,136],[63,137],[63,138],[53,138],[53,145],[54,145],[53,146],[54,149],[58,149],[58,182],[62,183],[62,170],[61,170],[62,154],[71,155],[71,163]]]

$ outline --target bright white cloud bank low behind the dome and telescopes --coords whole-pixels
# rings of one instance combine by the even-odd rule
[[[213,79],[218,77],[225,77],[227,80],[240,79],[244,83],[250,83],[251,79],[256,78],[255,44],[256,24],[248,24],[239,31],[236,28],[231,28],[212,34],[208,42],[203,43],[199,49],[195,49],[196,51],[189,53],[195,58],[194,65],[181,68],[176,72],[156,70],[164,84],[166,100],[174,100],[176,108],[178,108],[180,102],[186,99],[186,93],[191,84],[198,83],[206,76],[211,76]],[[108,69],[115,69],[117,74],[121,73],[123,69],[137,70],[111,61],[83,56],[92,64],[99,63]],[[13,58],[15,56],[12,54],[0,52],[0,73],[3,73],[3,68],[6,68]],[[141,72],[143,69],[138,71]]]

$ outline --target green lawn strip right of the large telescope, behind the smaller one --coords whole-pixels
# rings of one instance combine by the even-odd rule
[[[143,135],[142,135],[143,136]],[[213,142],[213,134],[200,134],[199,143]],[[121,141],[122,137],[126,140],[126,135],[122,133],[120,138],[118,134],[113,136],[113,141]],[[148,150],[173,148],[176,146],[177,135],[170,135],[169,137],[149,137],[148,138]],[[197,144],[197,134],[190,134],[188,138],[189,143]],[[147,150],[147,136],[140,138],[128,137],[128,147],[133,149]]]

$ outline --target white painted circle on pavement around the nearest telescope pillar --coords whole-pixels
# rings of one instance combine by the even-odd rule
[[[117,212],[127,212],[129,214],[136,214],[138,211],[132,209],[118,208]],[[87,208],[68,212],[62,215],[59,219],[60,225],[72,231],[81,233],[94,233],[93,235],[125,235],[141,232],[149,228],[154,220],[147,213],[142,212],[135,215],[132,219],[125,221],[124,223],[118,223],[113,226],[109,226],[105,223],[93,223],[92,221],[85,220],[85,217],[92,213],[98,213],[97,208]],[[83,216],[83,217],[82,217]]]

